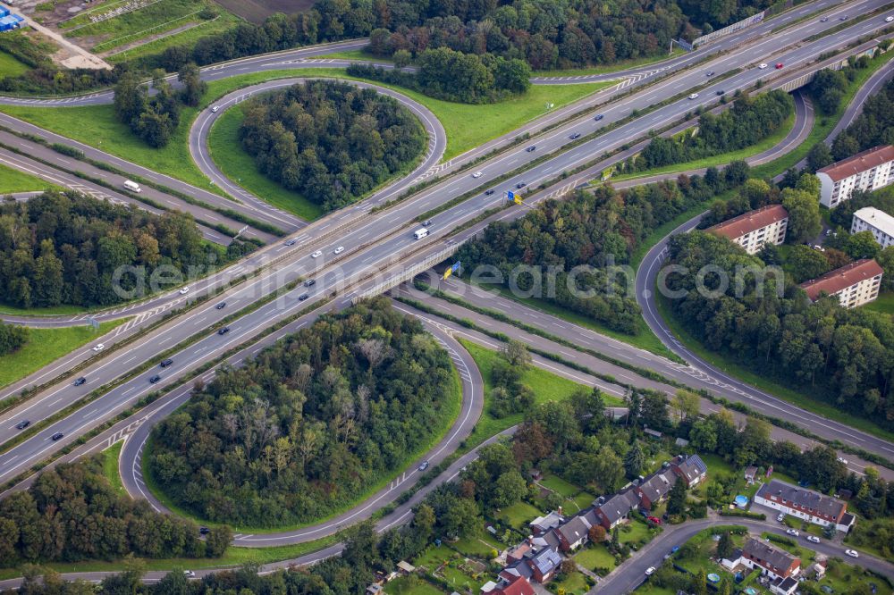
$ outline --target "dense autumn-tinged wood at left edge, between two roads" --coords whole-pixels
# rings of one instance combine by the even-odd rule
[[[0,205],[0,296],[13,306],[108,306],[122,301],[113,275],[130,291],[162,264],[181,272],[213,263],[189,214],[150,214],[76,192],[46,192]],[[141,271],[141,272],[140,272]]]

